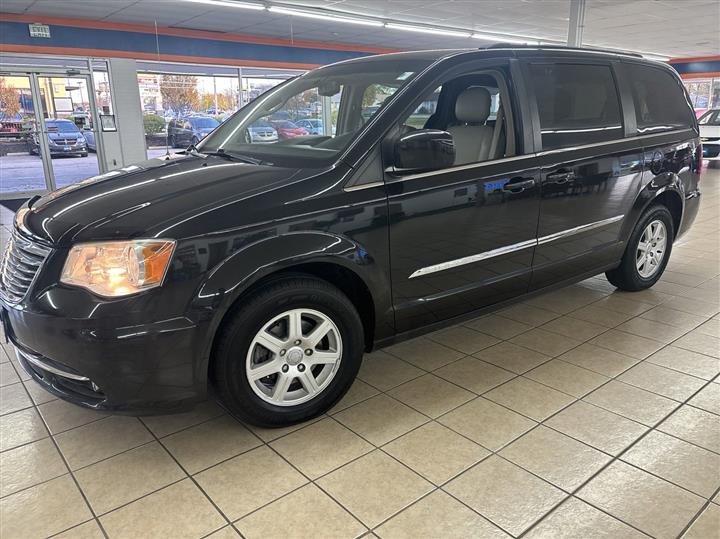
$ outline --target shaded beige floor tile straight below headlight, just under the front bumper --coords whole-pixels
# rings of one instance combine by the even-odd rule
[[[77,470],[151,441],[136,417],[110,416],[55,436],[71,470]]]

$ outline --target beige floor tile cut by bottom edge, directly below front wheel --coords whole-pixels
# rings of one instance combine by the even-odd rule
[[[312,516],[308,515],[309,511]],[[236,526],[247,539],[297,536],[340,539],[358,537],[367,531],[350,513],[312,484],[246,516]]]

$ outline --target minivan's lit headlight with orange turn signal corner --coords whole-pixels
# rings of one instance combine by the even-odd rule
[[[76,245],[70,249],[60,281],[100,296],[135,294],[162,284],[174,249],[172,240]]]

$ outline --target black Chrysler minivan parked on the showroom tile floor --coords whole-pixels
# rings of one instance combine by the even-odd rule
[[[323,133],[253,142],[298,102]],[[184,153],[29,200],[0,268],[5,332],[77,404],[162,413],[212,386],[253,423],[302,421],[375,347],[601,272],[652,286],[697,213],[701,155],[677,74],[639,56],[341,62]]]

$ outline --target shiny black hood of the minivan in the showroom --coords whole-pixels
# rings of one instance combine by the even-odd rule
[[[136,237],[182,238],[229,223],[262,221],[267,207],[248,200],[316,173],[176,154],[94,176],[36,199],[30,203],[25,226],[58,246]],[[277,206],[277,195],[270,196]]]

